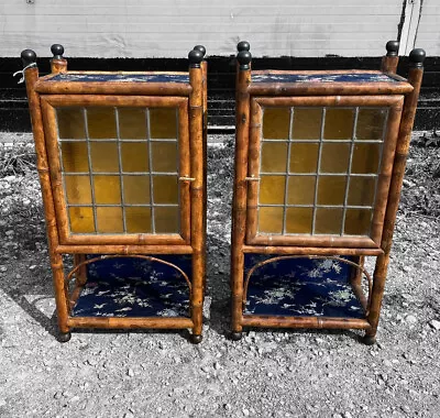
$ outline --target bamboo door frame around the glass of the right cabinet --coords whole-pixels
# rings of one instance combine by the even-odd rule
[[[251,102],[252,124],[250,136],[249,177],[260,178],[260,136],[262,127],[262,107],[387,107],[387,131],[384,135],[383,157],[378,169],[378,185],[373,208],[372,230],[370,238],[363,237],[305,237],[257,234],[257,182],[250,182],[248,191],[248,226],[246,243],[251,245],[314,245],[314,246],[346,246],[346,248],[380,248],[383,230],[387,191],[393,169],[393,158],[400,122],[403,96],[343,96],[343,97],[287,97],[287,98],[253,98]],[[252,110],[253,109],[253,110]],[[254,128],[255,127],[255,128]]]

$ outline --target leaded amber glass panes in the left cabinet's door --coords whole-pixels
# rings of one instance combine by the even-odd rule
[[[124,233],[124,219],[127,233],[178,233],[175,108],[59,108],[56,116],[66,202],[84,205],[67,210],[72,233]]]

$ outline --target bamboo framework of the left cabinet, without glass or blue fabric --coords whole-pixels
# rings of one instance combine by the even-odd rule
[[[53,53],[62,54],[61,45],[53,45]],[[67,61],[56,55],[51,62],[52,74],[38,78],[35,54],[22,53],[26,66],[24,76],[37,155],[44,211],[47,226],[51,266],[54,276],[59,340],[68,341],[73,328],[156,328],[193,329],[193,342],[201,341],[202,302],[206,263],[206,114],[207,64],[200,68],[199,56],[191,56],[187,82],[76,82],[51,80],[57,74],[102,74],[101,72],[68,72]],[[33,64],[33,65],[29,65]],[[106,73],[109,74],[109,73]],[[111,73],[118,75],[155,75],[164,73]],[[178,111],[178,150],[180,195],[180,229],[178,234],[107,234],[75,235],[67,226],[66,201],[62,189],[61,162],[54,107],[175,107]],[[74,255],[74,268],[64,274],[63,254]],[[184,277],[189,286],[189,318],[136,317],[94,318],[72,315],[72,309],[87,282],[86,265],[92,261],[85,254],[108,254],[107,257],[134,256],[161,260],[161,254],[189,254],[193,274]],[[155,256],[152,256],[154,254]],[[96,260],[101,260],[97,257]],[[92,258],[94,260],[94,258]],[[175,266],[180,271],[178,266]],[[183,271],[180,271],[183,272]],[[68,280],[75,276],[76,286],[68,292]]]

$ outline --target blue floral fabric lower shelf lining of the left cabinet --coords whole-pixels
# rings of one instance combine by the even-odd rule
[[[89,256],[91,257],[91,256]],[[161,255],[191,277],[189,255]],[[135,257],[87,265],[87,284],[73,308],[76,317],[189,317],[189,288],[175,268]]]

